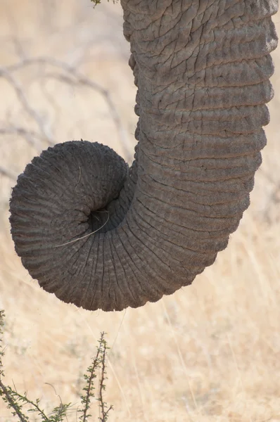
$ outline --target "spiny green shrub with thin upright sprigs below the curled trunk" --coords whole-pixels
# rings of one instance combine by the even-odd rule
[[[72,407],[71,403],[62,403],[59,406],[53,408],[53,410],[47,415],[45,411],[40,407],[40,400],[35,399],[35,401],[27,397],[27,392],[21,395],[11,388],[9,385],[5,385],[4,378],[4,366],[3,366],[3,357],[4,357],[4,348],[3,348],[3,328],[4,328],[4,311],[0,310],[0,397],[6,403],[6,407],[11,409],[13,416],[18,417],[20,422],[29,422],[30,418],[27,415],[28,413],[35,413],[40,416],[42,422],[63,422],[68,416],[68,411]],[[106,377],[106,356],[107,342],[105,340],[105,333],[101,333],[100,339],[98,340],[97,351],[95,357],[91,359],[91,365],[87,368],[86,373],[84,373],[85,386],[83,388],[84,394],[80,396],[82,408],[78,409],[77,412],[81,413],[79,416],[79,421],[89,422],[91,414],[89,414],[91,407],[91,400],[96,399],[99,402],[100,416],[98,420],[101,422],[108,421],[108,414],[113,406],[108,406],[104,401],[103,392],[106,390],[105,381]],[[98,397],[95,395],[95,381],[100,373],[98,381]],[[27,405],[27,410],[23,407]],[[25,413],[27,412],[27,413]]]

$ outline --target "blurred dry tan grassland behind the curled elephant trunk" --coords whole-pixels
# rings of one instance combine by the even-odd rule
[[[280,32],[280,15],[274,21]],[[59,67],[2,72],[0,166],[11,173],[0,174],[5,381],[41,398],[46,411],[59,394],[73,404],[68,421],[77,421],[82,374],[106,331],[110,422],[280,421],[280,50],[273,54],[275,97],[262,167],[229,247],[192,286],[139,309],[105,313],[65,305],[31,279],[14,252],[8,200],[11,177],[48,146],[47,138],[99,141],[131,160],[136,90],[120,5],[0,0],[0,45],[2,66],[38,56],[75,66],[108,90],[120,117],[112,118],[88,79],[66,83],[72,75]],[[96,407],[92,414],[97,421]],[[0,402],[0,422],[14,420]]]

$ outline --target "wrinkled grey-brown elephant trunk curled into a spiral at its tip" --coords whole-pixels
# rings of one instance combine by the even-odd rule
[[[11,197],[31,276],[105,311],[174,293],[226,248],[266,143],[277,44],[276,0],[121,3],[138,87],[132,167],[98,143],[61,143],[27,165]]]

